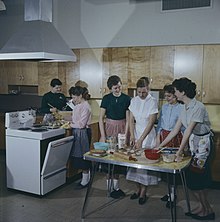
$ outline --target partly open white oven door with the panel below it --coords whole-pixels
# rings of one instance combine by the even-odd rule
[[[41,195],[66,183],[66,164],[72,145],[73,136],[49,143],[41,170]]]

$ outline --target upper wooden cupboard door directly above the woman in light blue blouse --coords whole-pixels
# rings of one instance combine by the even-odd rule
[[[150,77],[152,89],[163,89],[172,83],[174,76],[174,46],[154,46],[150,53]]]

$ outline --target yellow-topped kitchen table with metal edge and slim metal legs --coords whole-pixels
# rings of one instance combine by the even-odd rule
[[[91,190],[93,179],[95,176],[96,166],[99,163],[107,163],[108,164],[108,166],[109,166],[108,173],[110,173],[110,169],[111,169],[110,165],[113,165],[113,167],[114,167],[114,165],[120,165],[120,166],[134,167],[134,168],[138,168],[138,169],[146,169],[146,170],[151,170],[151,171],[156,171],[156,172],[164,172],[167,174],[172,174],[175,195],[176,195],[176,175],[180,174],[182,185],[183,185],[183,190],[184,190],[185,197],[186,197],[188,212],[191,212],[190,203],[189,203],[189,195],[188,195],[188,190],[186,187],[186,177],[185,177],[185,169],[189,166],[190,161],[191,161],[191,157],[184,157],[183,161],[178,162],[178,163],[177,162],[165,163],[162,160],[160,160],[159,162],[156,162],[156,163],[152,163],[151,161],[147,161],[146,158],[138,158],[137,161],[131,161],[131,160],[124,160],[121,158],[116,158],[112,154],[108,154],[106,156],[99,157],[99,156],[93,156],[92,154],[90,154],[90,152],[87,152],[84,155],[84,159],[92,161],[93,167],[92,167],[92,172],[91,172],[91,180],[90,180],[90,183],[87,188],[87,192],[86,192],[86,196],[85,196],[85,200],[84,200],[84,204],[83,204],[83,208],[82,208],[82,213],[81,213],[82,221],[85,219],[85,210],[88,205],[87,200],[88,200],[89,192]],[[167,178],[169,178],[169,177],[167,177]],[[169,190],[169,194],[170,194],[171,191],[170,191],[169,180],[168,180],[168,190]],[[109,192],[109,190],[108,190],[108,192]],[[172,222],[176,222],[176,200],[174,200],[174,207],[173,208],[171,207],[171,217],[172,217]]]

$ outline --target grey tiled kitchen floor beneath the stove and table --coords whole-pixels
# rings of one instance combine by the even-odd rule
[[[75,190],[77,181],[40,197],[15,190],[8,190],[5,182],[5,158],[0,156],[0,222],[78,222],[81,220],[81,210],[86,189]],[[107,197],[105,175],[97,173],[91,195],[88,199],[86,218],[88,222],[169,222],[170,211],[160,198],[166,193],[165,182],[148,189],[148,200],[145,205],[139,205],[137,200],[130,200],[134,191],[133,183],[122,176],[120,186],[126,192],[126,197],[114,200]],[[183,190],[177,190],[177,221],[196,221],[184,215],[186,202]],[[209,199],[216,212],[216,220],[220,222],[220,190],[210,190]],[[191,205],[195,204],[193,200]],[[104,205],[104,206],[103,206]]]

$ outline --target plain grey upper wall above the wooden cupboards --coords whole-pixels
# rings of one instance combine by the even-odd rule
[[[0,48],[24,18],[24,0],[4,2]],[[212,2],[161,12],[160,0],[53,0],[53,23],[71,48],[219,43],[220,1]]]

